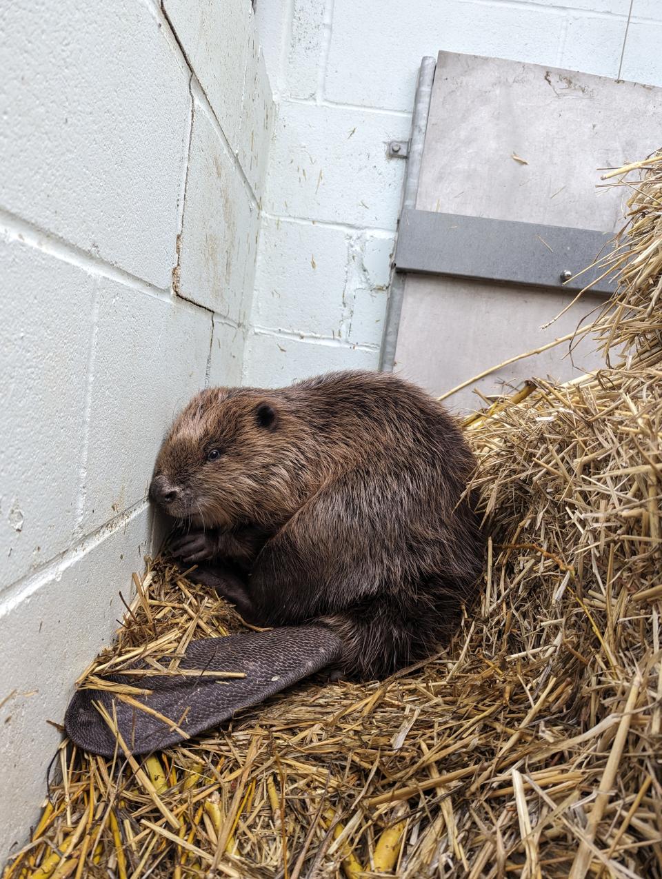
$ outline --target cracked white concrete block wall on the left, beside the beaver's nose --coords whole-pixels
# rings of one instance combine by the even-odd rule
[[[0,864],[152,549],[179,406],[241,380],[273,99],[251,0],[0,11]]]

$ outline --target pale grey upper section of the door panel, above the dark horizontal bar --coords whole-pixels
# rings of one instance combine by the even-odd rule
[[[440,52],[416,207],[615,230],[622,191],[596,169],[660,144],[662,89]]]

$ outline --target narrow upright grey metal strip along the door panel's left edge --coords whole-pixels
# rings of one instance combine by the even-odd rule
[[[411,114],[411,139],[409,142],[407,166],[404,171],[402,210],[416,205],[418,177],[420,176],[420,166],[423,162],[423,148],[426,143],[427,114],[430,112],[430,98],[432,98],[433,93],[434,71],[436,67],[436,60],[426,55],[418,69],[414,108]],[[389,300],[386,303],[384,335],[379,362],[379,368],[385,373],[392,373],[396,362],[397,331],[400,329],[403,297],[404,275],[391,272]]]

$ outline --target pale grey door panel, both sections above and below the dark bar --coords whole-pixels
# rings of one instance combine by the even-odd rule
[[[637,160],[662,145],[662,89],[535,64],[441,52],[433,85],[417,208],[497,220],[614,232],[622,188],[596,188],[600,167]],[[520,161],[523,160],[523,161]],[[596,254],[597,255],[597,254]],[[492,364],[563,336],[602,299],[570,301],[563,291],[408,275],[396,372],[435,393]],[[530,375],[571,378],[600,359],[567,345],[520,361],[479,383]],[[471,389],[452,408],[476,406]]]

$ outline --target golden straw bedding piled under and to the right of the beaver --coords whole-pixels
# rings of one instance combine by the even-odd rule
[[[606,367],[468,427],[490,543],[454,643],[140,762],[63,743],[5,879],[662,876],[662,156],[625,171],[620,285],[593,327]],[[194,579],[149,561],[84,681],[240,628]]]

